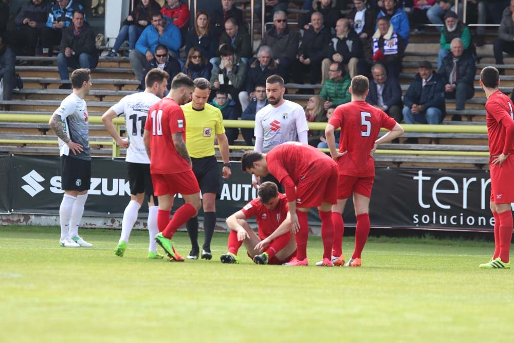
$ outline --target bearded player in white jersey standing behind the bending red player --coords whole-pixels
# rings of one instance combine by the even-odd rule
[[[266,96],[269,104],[255,114],[255,147],[256,151],[268,153],[274,147],[285,142],[301,142],[307,144],[307,119],[305,111],[299,104],[285,100],[284,79],[279,75],[271,75],[266,79]],[[284,188],[271,174],[258,180],[252,176],[252,185],[258,188],[258,184],[265,181],[275,183],[279,191],[284,193]]]

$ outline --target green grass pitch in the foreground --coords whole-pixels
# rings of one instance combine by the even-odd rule
[[[146,259],[134,231],[81,230],[93,248],[61,248],[59,229],[0,228],[0,342],[509,342],[514,275],[479,269],[493,243],[370,238],[361,268]],[[200,240],[203,235],[200,233]],[[492,237],[491,237],[492,239]],[[189,252],[186,233],[174,241]],[[345,237],[345,256],[354,237]]]

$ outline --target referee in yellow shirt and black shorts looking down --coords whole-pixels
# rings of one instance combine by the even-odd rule
[[[211,239],[216,225],[216,197],[222,191],[219,177],[214,138],[217,137],[219,151],[223,158],[223,178],[228,179],[230,171],[228,139],[223,126],[221,111],[207,103],[211,85],[207,79],[194,80],[192,101],[182,105],[186,117],[186,147],[193,161],[193,172],[198,180],[204,205],[204,245],[201,258],[212,259]],[[198,217],[191,218],[186,227],[191,239],[191,252],[188,259],[196,260],[199,255]]]

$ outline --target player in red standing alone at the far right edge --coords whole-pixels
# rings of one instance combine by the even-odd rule
[[[494,67],[480,73],[480,85],[487,97],[487,137],[489,139],[489,170],[491,173],[490,208],[494,216],[494,254],[480,268],[510,268],[509,252],[512,239],[512,209],[514,203],[514,104],[499,91],[500,74]]]

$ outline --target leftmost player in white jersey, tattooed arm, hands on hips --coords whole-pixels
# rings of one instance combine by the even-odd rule
[[[91,184],[89,122],[84,101],[91,89],[91,71],[77,69],[71,73],[71,86],[73,92],[61,102],[48,122],[59,137],[61,188],[64,190],[59,208],[59,244],[67,248],[93,246],[79,236],[79,224]]]

